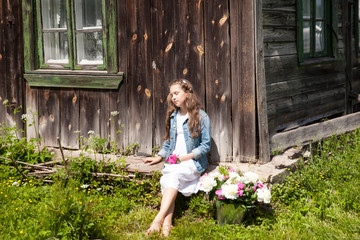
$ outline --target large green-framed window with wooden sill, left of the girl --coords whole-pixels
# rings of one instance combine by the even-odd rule
[[[31,87],[119,87],[116,0],[90,2],[22,0],[24,78]],[[85,21],[87,8],[97,18],[93,11]]]

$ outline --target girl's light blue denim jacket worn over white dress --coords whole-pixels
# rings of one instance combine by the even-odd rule
[[[167,159],[175,148],[176,140],[176,114],[174,111],[170,116],[170,141],[165,140],[160,152],[158,153],[164,159]],[[186,143],[187,153],[194,153],[194,162],[198,172],[203,172],[207,166],[207,153],[211,147],[211,126],[208,115],[200,110],[200,136],[192,138],[191,132],[188,126],[189,119],[185,120],[183,124],[184,137]]]

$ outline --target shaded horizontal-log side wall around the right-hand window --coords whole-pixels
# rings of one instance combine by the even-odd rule
[[[340,1],[339,61],[299,66],[296,1],[263,1],[264,61],[269,133],[286,131],[345,111],[344,43]],[[336,31],[336,30],[335,30]]]

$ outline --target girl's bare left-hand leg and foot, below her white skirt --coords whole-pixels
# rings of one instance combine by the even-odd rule
[[[160,228],[165,221],[165,217],[168,215],[169,211],[171,212],[170,216],[172,218],[174,207],[175,207],[175,199],[177,196],[177,189],[175,188],[166,188],[164,190],[164,194],[161,199],[160,211],[156,215],[154,221],[152,222],[150,228],[147,230],[146,234],[150,234],[152,232],[160,232]],[[167,220],[168,221],[168,220]]]

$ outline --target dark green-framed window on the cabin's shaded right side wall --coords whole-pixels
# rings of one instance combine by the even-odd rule
[[[331,1],[298,1],[299,60],[329,57],[331,51]]]

